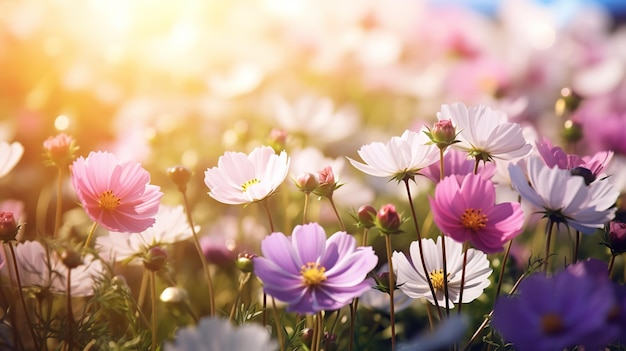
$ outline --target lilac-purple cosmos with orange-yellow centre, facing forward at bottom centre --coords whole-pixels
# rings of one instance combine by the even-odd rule
[[[371,288],[365,278],[378,263],[371,247],[357,248],[346,232],[326,239],[317,223],[296,226],[291,237],[272,233],[261,242],[261,252],[254,258],[254,273],[263,290],[296,313],[346,306]]]

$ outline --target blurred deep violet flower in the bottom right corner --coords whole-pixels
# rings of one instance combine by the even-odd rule
[[[605,278],[606,266],[600,276],[597,270],[596,263],[583,262],[551,277],[526,278],[518,296],[496,302],[494,328],[516,350],[552,351],[577,345],[598,350],[613,341],[618,330],[609,324],[617,306],[613,285]]]

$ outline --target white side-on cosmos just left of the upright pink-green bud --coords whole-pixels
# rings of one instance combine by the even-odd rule
[[[427,145],[429,141],[423,133],[407,129],[386,144],[363,145],[358,154],[365,163],[349,157],[348,160],[361,172],[375,177],[391,177],[398,181],[412,179],[421,169],[439,160],[439,149],[436,145]]]

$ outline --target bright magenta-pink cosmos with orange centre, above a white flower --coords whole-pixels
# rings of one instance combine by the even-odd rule
[[[491,181],[468,174],[446,177],[437,184],[435,198],[429,200],[434,221],[445,235],[494,253],[520,234],[524,224],[519,203],[495,204],[495,198]]]

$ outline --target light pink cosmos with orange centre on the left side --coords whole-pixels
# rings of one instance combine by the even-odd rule
[[[154,224],[163,193],[139,163],[91,152],[72,164],[72,185],[89,217],[102,227],[139,233]]]

